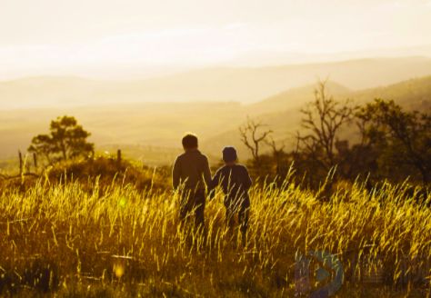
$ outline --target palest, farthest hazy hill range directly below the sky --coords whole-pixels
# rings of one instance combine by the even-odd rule
[[[236,101],[256,103],[326,78],[350,90],[375,88],[431,75],[431,59],[404,57],[258,68],[218,67],[134,82],[99,82],[44,76],[0,82],[0,109],[79,105]]]

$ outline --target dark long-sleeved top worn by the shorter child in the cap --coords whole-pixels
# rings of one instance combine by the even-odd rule
[[[221,185],[223,192],[226,194],[226,202],[242,199],[242,204],[250,206],[248,190],[252,181],[245,165],[234,164],[225,165],[218,169],[211,182],[211,190]]]

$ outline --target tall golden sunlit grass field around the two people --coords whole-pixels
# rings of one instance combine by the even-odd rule
[[[178,194],[167,187],[137,188],[123,175],[109,184],[32,179],[1,186],[3,297],[293,297],[295,254],[306,251],[332,253],[343,264],[336,297],[428,293],[429,210],[407,184],[371,193],[365,184],[340,184],[322,200],[294,176],[281,187],[260,181],[250,191],[244,246],[241,233],[229,238],[217,194],[205,208],[202,248],[199,234],[178,229]],[[376,261],[372,282],[357,262],[364,256]]]

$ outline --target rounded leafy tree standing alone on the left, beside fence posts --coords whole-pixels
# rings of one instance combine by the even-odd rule
[[[43,154],[52,163],[55,154],[60,154],[59,159],[67,160],[88,155],[95,149],[95,144],[86,141],[91,134],[77,125],[73,116],[57,117],[56,121],[51,121],[50,131],[50,134],[35,136],[28,152]]]

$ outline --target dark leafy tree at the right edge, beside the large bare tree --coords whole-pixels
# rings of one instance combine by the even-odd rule
[[[379,169],[414,169],[428,184],[431,174],[431,114],[405,112],[394,101],[376,99],[357,114],[379,151]]]

